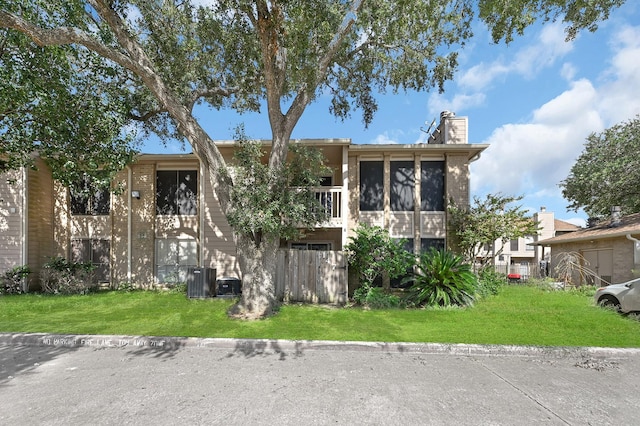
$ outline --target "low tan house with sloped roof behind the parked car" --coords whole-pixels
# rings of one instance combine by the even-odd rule
[[[578,254],[582,268],[590,274],[574,273],[575,285],[608,285],[637,276],[640,268],[640,213],[624,217],[612,215],[605,222],[575,232],[538,241],[551,249],[552,275],[567,254]]]

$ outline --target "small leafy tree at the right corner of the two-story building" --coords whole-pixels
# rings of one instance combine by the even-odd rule
[[[479,261],[483,268],[502,253],[510,240],[538,233],[538,224],[527,217],[521,206],[509,207],[521,199],[522,196],[488,194],[484,200],[473,197],[470,207],[449,206],[455,245],[468,262]],[[496,242],[501,245],[497,252]]]

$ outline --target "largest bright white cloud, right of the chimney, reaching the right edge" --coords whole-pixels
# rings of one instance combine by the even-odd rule
[[[586,137],[640,113],[640,27],[622,28],[612,40],[610,66],[599,80],[571,81],[528,122],[504,124],[483,141],[490,147],[471,165],[472,192],[526,195],[528,204],[548,200],[566,206],[558,185]],[[575,70],[564,64],[559,72],[570,78]]]

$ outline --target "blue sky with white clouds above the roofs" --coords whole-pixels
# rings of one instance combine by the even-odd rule
[[[365,128],[359,111],[341,121],[329,113],[328,97],[307,107],[294,138],[351,138],[356,144],[413,144],[440,112],[469,122],[469,143],[488,144],[471,164],[471,195],[523,196],[531,214],[546,207],[556,219],[583,226],[583,211],[568,211],[560,182],[583,151],[591,133],[640,114],[640,2],[628,0],[595,33],[565,41],[561,23],[530,27],[505,45],[492,43],[485,28],[459,52],[459,68],[444,93],[386,93]],[[270,139],[266,112],[198,110],[213,139],[232,139],[244,123],[246,134]],[[184,152],[180,143],[148,140],[143,152]],[[190,152],[190,147],[186,148]]]

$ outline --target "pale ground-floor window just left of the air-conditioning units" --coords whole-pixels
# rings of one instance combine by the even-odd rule
[[[156,240],[156,278],[159,283],[184,283],[189,267],[198,266],[195,240]]]

